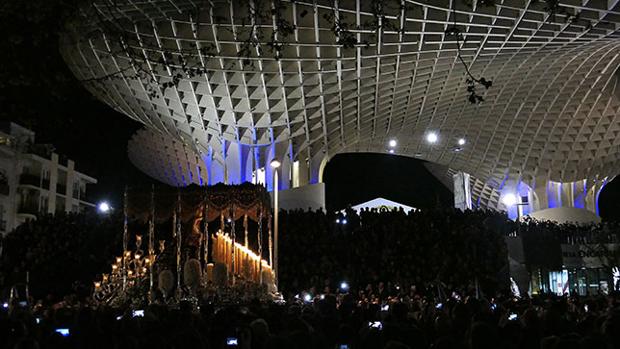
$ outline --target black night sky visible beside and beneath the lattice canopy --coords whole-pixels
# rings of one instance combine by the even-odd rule
[[[99,180],[93,201],[120,206],[123,187],[149,177],[127,158],[127,141],[142,126],[102,104],[70,73],[58,49],[69,1],[0,1],[0,120],[15,121],[76,161]],[[355,175],[351,175],[355,174]],[[414,207],[452,204],[450,192],[416,159],[388,154],[343,154],[325,172],[328,207],[340,209],[376,197]],[[620,180],[600,196],[603,219],[620,218]]]

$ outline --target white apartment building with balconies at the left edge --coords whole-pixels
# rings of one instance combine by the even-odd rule
[[[15,123],[0,125],[0,234],[38,215],[82,212],[97,180],[75,170],[72,160],[36,144],[35,133]]]

